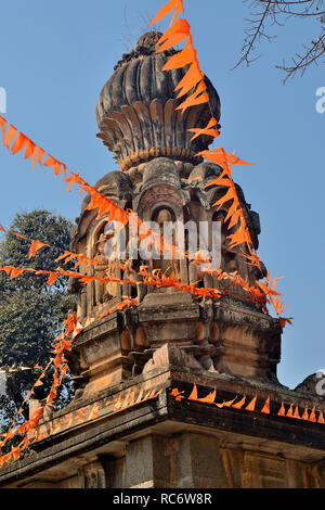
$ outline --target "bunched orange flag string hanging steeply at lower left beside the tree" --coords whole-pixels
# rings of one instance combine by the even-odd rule
[[[131,299],[129,297],[125,298],[121,303],[118,305],[114,306],[109,310],[107,310],[105,314],[103,314],[102,317],[108,316],[110,314],[114,314],[117,310],[122,310],[127,307],[130,306],[136,306],[138,302],[136,299]],[[95,320],[95,319],[94,319]],[[96,319],[96,320],[100,320]],[[4,435],[4,438],[0,442],[0,468],[6,463],[9,460],[17,460],[20,458],[20,455],[22,451],[24,451],[27,446],[28,446],[28,441],[30,437],[30,433],[36,429],[38,425],[40,419],[43,416],[44,409],[47,406],[54,407],[54,403],[57,396],[57,390],[61,386],[64,377],[67,374],[68,371],[68,365],[66,359],[64,358],[64,353],[65,352],[70,352],[74,339],[77,336],[77,334],[82,331],[82,327],[78,323],[78,318],[77,316],[73,313],[73,310],[69,311],[67,319],[63,322],[63,328],[62,328],[62,333],[54,340],[54,343],[52,345],[53,347],[53,354],[55,355],[47,365],[47,367],[42,370],[41,374],[38,377],[36,383],[31,387],[31,390],[28,392],[25,400],[23,401],[21,408],[16,412],[8,432]],[[46,404],[38,409],[36,409],[32,412],[32,416],[29,420],[17,426],[16,429],[14,428],[14,424],[16,423],[17,418],[22,415],[23,412],[23,407],[28,403],[30,399],[31,395],[35,393],[35,388],[37,386],[41,386],[43,384],[42,379],[44,378],[47,371],[51,366],[54,366],[54,374],[53,374],[53,383],[50,390],[50,393],[46,399]],[[39,368],[39,367],[38,367]],[[25,437],[22,439],[18,446],[14,447],[11,449],[11,451],[4,456],[1,457],[1,451],[4,447],[4,445],[12,438],[14,438],[17,434],[23,436],[25,434]],[[26,435],[27,434],[27,435]]]

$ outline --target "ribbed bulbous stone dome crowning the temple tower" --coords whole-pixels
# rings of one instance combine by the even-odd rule
[[[155,46],[160,36],[157,31],[142,36],[135,50],[125,54],[117,64],[100,94],[99,137],[113,151],[123,171],[160,156],[199,163],[195,154],[206,150],[212,138],[199,137],[191,142],[193,135],[187,129],[205,127],[211,113],[220,119],[219,95],[208,78],[210,105],[191,109],[184,115],[176,111],[184,98],[177,100],[174,88],[187,67],[161,71],[176,51],[156,54]]]

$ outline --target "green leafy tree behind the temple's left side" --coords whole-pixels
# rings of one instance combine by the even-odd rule
[[[43,247],[29,260],[30,241],[9,232],[0,244],[0,265],[55,271],[58,266],[55,259],[69,247],[70,229],[69,220],[48,211],[17,214],[11,232],[51,244],[54,248]],[[44,367],[48,364],[51,344],[61,332],[68,310],[75,308],[75,296],[66,293],[67,278],[57,279],[51,288],[47,280],[47,277],[32,273],[24,273],[14,280],[9,280],[3,272],[0,276],[0,367],[30,369],[6,374],[6,396],[0,397],[0,428],[10,425],[40,374],[35,365]],[[51,382],[50,371],[44,385],[36,388],[37,398],[48,395]],[[68,400],[72,391],[72,385],[65,384],[61,400]],[[24,418],[28,419],[27,407],[24,407]]]

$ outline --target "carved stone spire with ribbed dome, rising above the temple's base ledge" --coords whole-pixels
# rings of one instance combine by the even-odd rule
[[[178,111],[177,106],[184,98],[177,99],[174,89],[187,68],[161,72],[174,50],[157,54],[155,47],[160,36],[161,34],[155,31],[142,36],[135,50],[123,55],[115,66],[113,76],[100,94],[96,107],[101,130],[99,137],[113,151],[120,170],[104,176],[96,188],[121,208],[135,212],[142,221],[155,221],[160,226],[161,232],[166,222],[185,225],[192,221],[197,231],[199,225],[206,222],[209,227],[209,250],[212,243],[212,224],[221,222],[221,269],[226,272],[237,271],[255,285],[262,278],[262,272],[248,265],[238,248],[229,245],[225,225],[229,204],[221,211],[213,206],[224,194],[224,188],[207,187],[209,181],[220,176],[222,168],[212,163],[204,163],[196,156],[198,151],[208,149],[213,139],[204,136],[191,141],[193,135],[188,132],[190,128],[205,127],[211,117],[211,110],[212,115],[220,119],[218,92],[206,78],[210,104],[192,107],[184,114]],[[246,203],[239,187],[237,192],[257,248],[259,215]],[[132,258],[130,263],[130,234],[127,235],[125,255],[130,264],[123,269],[118,262],[108,260],[105,245],[109,243],[112,246],[114,232],[107,233],[105,217],[98,219],[95,212],[87,209],[87,204],[86,200],[73,232],[72,250],[102,260],[101,265],[91,269],[91,276],[110,276],[126,281],[131,277],[133,283],[121,286],[95,281],[87,288],[80,288],[72,282],[70,291],[79,296],[80,322],[87,326],[93,318],[101,317],[109,307],[119,303],[125,295],[136,298],[140,306],[138,311],[132,313],[133,319],[136,314],[139,316],[138,326],[126,323],[123,327],[118,361],[114,358],[110,368],[106,364],[102,379],[99,372],[93,379],[92,370],[88,371],[88,382],[84,379],[82,383],[86,394],[94,387],[105,386],[108,372],[112,384],[128,379],[132,373],[142,372],[148,352],[164,345],[167,336],[171,344],[183,345],[187,349],[192,346],[190,350],[195,353],[196,361],[206,370],[276,380],[281,337],[277,320],[263,317],[261,306],[252,304],[240,288],[230,282],[220,282],[217,276],[205,275],[197,264],[188,259],[144,260],[139,257]],[[187,243],[185,251],[188,251],[190,235],[185,229],[184,237]],[[148,265],[152,270],[160,269],[161,273],[172,272],[184,284],[196,283],[199,286],[218,289],[224,291],[224,296],[231,297],[213,302],[171,289],[154,289],[142,283],[139,270],[143,265]],[[89,268],[84,267],[83,270],[89,271]],[[233,306],[231,314],[230,304]],[[145,323],[142,323],[140,317],[141,309],[144,308],[151,309],[151,313],[146,316]],[[193,320],[187,315],[192,308],[195,310]],[[158,309],[159,314],[165,311],[161,328],[157,329],[154,324]],[[263,317],[263,321],[258,320],[255,326],[251,323],[248,331],[243,324],[250,321],[248,317],[251,313],[257,314],[259,319]],[[177,322],[172,318],[176,316]],[[200,320],[199,317],[207,318]],[[258,347],[261,323],[263,334],[272,340]],[[230,332],[232,328],[240,329],[240,339],[231,333],[232,340],[229,341],[230,333],[222,332]],[[136,353],[134,358],[132,352]],[[100,350],[98,354],[103,355]],[[82,378],[79,382],[81,380]]]

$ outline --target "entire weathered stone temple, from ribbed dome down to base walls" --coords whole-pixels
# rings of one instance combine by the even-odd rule
[[[204,271],[199,258],[132,257],[132,229],[123,257],[108,258],[107,246],[118,250],[116,224],[89,208],[88,196],[70,245],[96,260],[78,268],[92,280],[68,286],[78,298],[65,353],[75,397],[44,408],[29,432],[32,454],[3,466],[0,487],[324,487],[324,401],[313,378],[295,391],[277,379],[284,324],[253,293],[268,268],[230,243],[230,203],[214,205],[226,192],[216,183],[223,169],[198,155],[213,139],[190,131],[211,116],[219,123],[219,95],[205,77],[209,103],[177,110],[187,67],[161,71],[177,51],[157,53],[160,37],[143,35],[100,94],[98,137],[119,170],[95,188],[138,215],[134,229],[155,221],[162,235],[166,224],[206,222],[212,250],[219,222],[221,271]],[[259,215],[237,184],[236,192],[258,250]],[[191,232],[183,234],[186,252]],[[126,297],[131,306],[120,306]],[[41,405],[34,398],[30,413]]]

